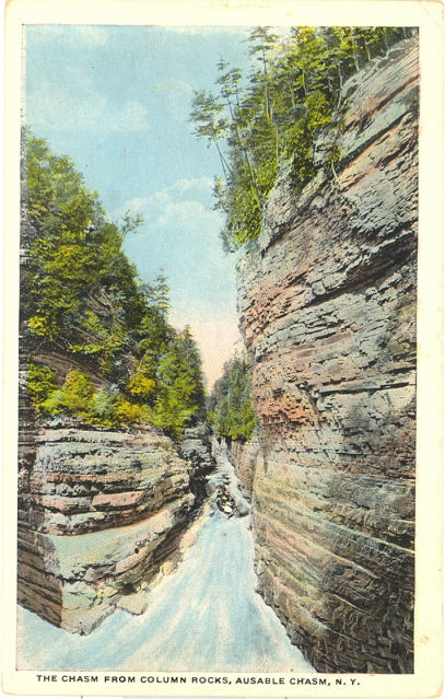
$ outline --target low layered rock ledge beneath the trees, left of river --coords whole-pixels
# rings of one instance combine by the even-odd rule
[[[24,453],[30,441],[36,448],[21,464],[19,602],[81,633],[116,606],[141,613],[140,592],[191,519],[191,481],[212,468],[210,455],[195,474],[154,430],[40,427],[22,436]]]

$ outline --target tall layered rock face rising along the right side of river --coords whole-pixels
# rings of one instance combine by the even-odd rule
[[[321,672],[413,668],[418,79],[410,39],[346,83],[336,176],[283,172],[239,266],[260,591]]]

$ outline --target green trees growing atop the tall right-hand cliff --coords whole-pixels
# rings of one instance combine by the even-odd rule
[[[343,82],[372,58],[407,38],[405,27],[293,27],[288,37],[257,27],[248,38],[255,67],[243,75],[218,63],[216,92],[196,91],[190,120],[195,133],[220,155],[215,208],[226,214],[221,233],[226,249],[255,240],[279,164],[291,163],[293,185],[302,189],[317,167],[333,171],[335,142]],[[330,136],[328,133],[330,132]],[[315,144],[326,133],[323,162]]]

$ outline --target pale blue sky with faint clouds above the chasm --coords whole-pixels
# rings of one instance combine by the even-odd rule
[[[125,247],[144,281],[167,277],[172,322],[189,324],[210,383],[237,338],[235,259],[212,209],[218,154],[188,121],[221,57],[246,67],[245,27],[28,25],[26,123],[70,155],[113,219],[144,224]]]

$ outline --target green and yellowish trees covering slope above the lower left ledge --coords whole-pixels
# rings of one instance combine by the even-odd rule
[[[73,360],[89,358],[112,387],[97,392],[77,370],[61,386],[49,368],[31,363],[34,405],[106,427],[145,420],[179,436],[203,411],[201,358],[189,328],[168,324],[166,280],[142,283],[122,251],[141,220],[112,222],[73,162],[45,140],[27,135],[25,156],[34,232],[26,242],[27,329]]]

